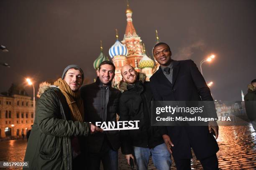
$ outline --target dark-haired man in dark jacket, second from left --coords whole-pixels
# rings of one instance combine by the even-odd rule
[[[118,100],[121,92],[111,87],[115,76],[115,65],[103,61],[97,70],[96,82],[81,87],[81,96],[84,101],[84,119],[87,122],[116,122]],[[104,131],[85,138],[84,146],[87,151],[87,167],[90,170],[99,170],[102,161],[104,170],[118,169],[118,149],[120,138],[118,130]]]

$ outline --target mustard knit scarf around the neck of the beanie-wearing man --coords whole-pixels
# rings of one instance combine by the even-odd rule
[[[56,82],[54,82],[54,85],[58,86],[62,94],[65,96],[69,105],[69,109],[71,111],[72,120],[83,122],[82,115],[78,108],[78,105],[82,104],[82,100],[80,98],[80,91],[78,90],[74,92],[73,90],[71,90],[67,82],[65,80],[62,80],[61,78],[56,80]]]

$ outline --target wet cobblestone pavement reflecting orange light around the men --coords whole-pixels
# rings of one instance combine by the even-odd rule
[[[219,133],[217,141],[220,151],[217,155],[220,170],[256,170],[256,132],[252,126],[220,126]],[[26,144],[26,140],[0,142],[0,161],[23,161]],[[118,159],[119,170],[130,170],[120,150]],[[194,170],[202,170],[202,166],[195,159],[194,154],[191,160],[191,167]],[[14,169],[21,168],[8,168],[8,170]],[[176,170],[174,161],[171,169]],[[152,160],[149,162],[148,170],[156,170]]]

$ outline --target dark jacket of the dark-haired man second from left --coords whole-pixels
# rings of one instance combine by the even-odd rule
[[[103,120],[102,117],[104,113],[102,113],[102,110],[104,110],[104,108],[101,106],[102,102],[105,102],[105,100],[102,100],[102,95],[104,95],[103,90],[106,90],[106,87],[102,86],[99,77],[97,77],[96,82],[81,87],[81,97],[84,101],[85,122],[92,122],[94,125],[95,122],[116,122],[116,117],[118,114],[118,100],[121,92],[120,90],[115,89],[111,86],[109,86],[108,88],[109,97],[107,105],[107,115],[105,117],[105,120]],[[100,152],[105,135],[110,142],[113,150],[118,150],[120,148],[120,137],[118,130],[110,130],[104,131],[103,133],[95,133],[85,138],[85,147],[89,149],[90,153]]]

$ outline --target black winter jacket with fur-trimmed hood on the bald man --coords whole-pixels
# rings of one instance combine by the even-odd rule
[[[120,82],[124,90],[119,101],[120,121],[139,120],[138,130],[121,130],[121,150],[125,155],[133,153],[133,146],[154,148],[164,143],[157,126],[151,126],[151,100],[153,95],[146,75],[138,73],[139,81],[133,85]]]

